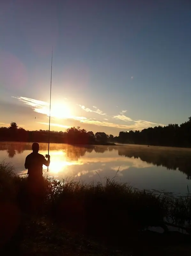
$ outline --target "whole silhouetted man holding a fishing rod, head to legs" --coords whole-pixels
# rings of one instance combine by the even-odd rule
[[[25,160],[25,169],[28,169],[27,178],[27,194],[30,210],[39,208],[42,204],[45,193],[45,180],[42,176],[42,165],[50,165],[50,155],[46,158],[38,153],[39,144],[34,142],[32,145],[33,152],[30,153]]]

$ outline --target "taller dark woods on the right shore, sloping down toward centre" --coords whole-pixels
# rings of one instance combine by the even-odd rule
[[[119,143],[153,146],[191,147],[191,117],[189,121],[168,126],[155,126],[140,131],[119,132],[114,138]]]

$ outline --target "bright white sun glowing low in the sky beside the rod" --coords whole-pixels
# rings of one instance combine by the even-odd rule
[[[50,115],[56,118],[69,118],[71,117],[71,110],[65,103],[54,103],[51,106]]]

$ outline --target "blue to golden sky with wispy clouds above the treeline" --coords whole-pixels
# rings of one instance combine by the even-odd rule
[[[1,0],[0,126],[118,135],[191,116],[189,0]]]

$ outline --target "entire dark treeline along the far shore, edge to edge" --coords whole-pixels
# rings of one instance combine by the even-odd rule
[[[191,117],[189,121],[167,126],[155,126],[142,131],[119,132],[119,136],[108,135],[105,132],[86,131],[80,127],[71,127],[65,132],[50,131],[51,143],[69,144],[102,144],[124,143],[152,146],[191,147]],[[48,142],[49,131],[27,131],[18,128],[14,122],[10,127],[0,127],[0,141]]]

